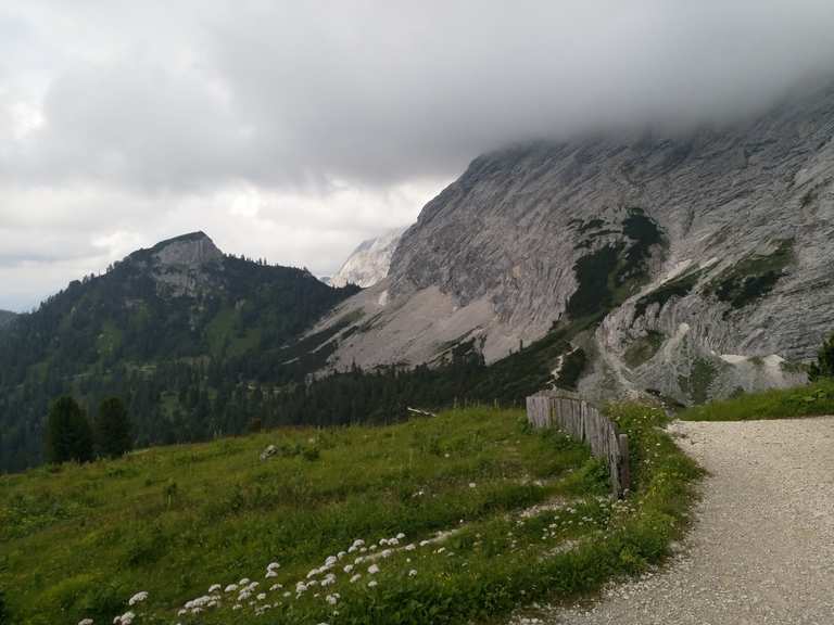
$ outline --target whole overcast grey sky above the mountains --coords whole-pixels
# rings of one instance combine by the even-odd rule
[[[749,115],[832,0],[0,0],[0,308],[204,230],[334,271],[479,153]]]

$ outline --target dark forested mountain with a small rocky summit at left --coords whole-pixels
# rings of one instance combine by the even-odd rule
[[[245,430],[262,407],[250,381],[303,381],[304,358],[327,353],[301,358],[295,339],[357,291],[225,255],[203,232],[71,282],[3,332],[0,470],[37,462],[48,403],[65,393],[91,411],[126,398],[140,445]]]

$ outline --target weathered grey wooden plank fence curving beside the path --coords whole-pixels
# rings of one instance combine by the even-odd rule
[[[629,437],[607,417],[569,391],[542,391],[527,398],[527,419],[533,428],[558,428],[608,464],[611,492],[622,497],[630,487]]]

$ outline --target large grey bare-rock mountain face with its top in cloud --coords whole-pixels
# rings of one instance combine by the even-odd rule
[[[388,278],[323,324],[361,318],[331,366],[432,362],[465,341],[495,361],[558,331],[592,396],[799,382],[834,331],[832,137],[825,89],[720,130],[480,156]]]

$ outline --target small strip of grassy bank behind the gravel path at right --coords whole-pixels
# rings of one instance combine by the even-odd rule
[[[821,380],[795,388],[744,393],[695,406],[680,413],[687,421],[749,421],[834,414],[834,381]]]

